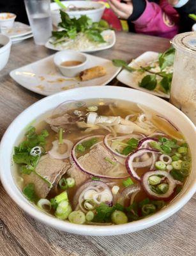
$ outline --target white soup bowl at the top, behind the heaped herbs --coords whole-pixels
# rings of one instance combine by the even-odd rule
[[[102,19],[103,12],[105,10],[105,6],[101,3],[93,2],[93,1],[61,1],[64,6],[75,5],[77,7],[94,7],[94,10],[87,10],[87,11],[72,11],[66,12],[70,16],[70,18],[75,17],[79,19],[81,15],[87,15],[87,17],[91,18],[93,22],[99,22]],[[52,16],[52,24],[57,27],[59,22],[61,22],[61,16],[59,13],[60,7],[57,3],[50,4],[51,16]]]

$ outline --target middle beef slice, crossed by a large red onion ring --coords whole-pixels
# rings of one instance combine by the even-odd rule
[[[117,161],[105,147],[98,144],[96,147],[91,149],[89,153],[80,157],[79,163],[89,172],[107,175],[107,172],[109,172],[114,165],[105,161],[105,158],[109,158],[113,162]],[[82,172],[75,165],[72,166],[67,173],[75,179],[77,186],[85,182],[90,177],[90,175]]]

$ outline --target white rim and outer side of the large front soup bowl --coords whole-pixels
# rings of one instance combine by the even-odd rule
[[[124,87],[119,87],[119,86],[102,86],[102,90],[107,91],[107,88],[109,88],[109,87],[112,90],[115,90],[116,93],[120,93],[121,90],[124,90],[124,92],[126,91],[127,93],[137,92],[138,94],[143,95],[144,97],[145,96],[151,97],[153,99],[156,98],[156,101],[162,102],[162,104],[165,104],[165,105],[169,104],[165,100],[160,99],[154,95],[150,95],[149,93],[141,92],[141,91],[130,89],[130,88],[124,88]],[[74,89],[68,90],[66,92],[69,92],[69,93],[72,93],[74,91],[82,92],[82,90],[84,90],[84,92],[85,92],[86,87],[74,88]],[[97,92],[98,92],[100,90],[100,86],[87,87],[87,90],[88,90],[88,92],[90,92],[91,90],[97,90]],[[153,214],[153,216],[149,216],[142,220],[132,221],[130,223],[126,223],[123,225],[94,226],[94,225],[78,225],[78,224],[73,224],[73,223],[69,223],[66,221],[58,220],[52,216],[49,216],[49,215],[41,212],[40,210],[33,207],[33,205],[30,204],[27,200],[24,200],[24,196],[19,191],[19,189],[18,189],[18,193],[15,193],[15,189],[11,188],[11,186],[9,186],[9,184],[7,184],[6,175],[4,175],[4,172],[3,172],[3,169],[6,169],[6,166],[4,166],[4,157],[3,157],[4,150],[3,150],[3,148],[4,148],[4,145],[6,145],[6,141],[8,141],[10,130],[13,129],[12,127],[20,119],[20,116],[22,117],[22,116],[26,115],[26,113],[28,113],[31,108],[39,106],[40,103],[49,102],[52,98],[56,98],[56,97],[58,97],[58,95],[66,94],[66,92],[60,92],[60,93],[56,93],[54,95],[50,95],[41,100],[38,100],[38,102],[35,102],[33,105],[29,106],[29,108],[25,109],[22,113],[20,113],[19,116],[17,116],[17,118],[15,118],[15,120],[13,120],[13,122],[10,124],[10,126],[6,130],[6,132],[4,133],[4,136],[1,140],[1,145],[0,145],[0,162],[1,162],[0,178],[1,178],[1,182],[4,186],[4,189],[8,193],[8,195],[10,195],[11,199],[13,199],[19,205],[20,208],[22,208],[25,212],[27,212],[27,214],[29,214],[33,218],[36,218],[36,220],[39,220],[46,225],[57,228],[59,230],[63,230],[65,232],[70,232],[73,234],[87,235],[87,236],[112,236],[112,235],[126,234],[128,232],[139,231],[144,228],[151,227],[152,225],[155,225],[156,223],[160,223],[161,221],[165,220],[166,218],[169,218],[170,216],[172,216],[172,214],[177,212],[181,207],[183,207],[183,205],[185,205],[188,202],[188,200],[190,200],[190,198],[193,196],[193,194],[196,191],[196,186],[195,186],[196,178],[195,178],[195,180],[193,180],[191,186],[187,189],[185,195],[181,196],[181,198],[178,198],[177,202],[173,202],[172,205],[168,205],[161,211],[156,212],[156,214]],[[79,92],[77,92],[77,93],[79,93]],[[87,98],[85,97],[84,99],[87,99]],[[89,97],[88,99],[91,99],[91,97]],[[105,99],[111,99],[111,98],[105,97]],[[80,100],[82,100],[82,98]],[[193,125],[193,123],[190,121],[190,119],[184,113],[182,113],[179,109],[172,106],[171,104],[170,104],[170,108],[173,109],[173,111],[175,111],[179,115],[183,116],[183,118],[186,120],[186,123],[190,126],[190,128],[193,131],[196,131],[195,125]],[[17,188],[16,185],[15,185],[15,188]]]

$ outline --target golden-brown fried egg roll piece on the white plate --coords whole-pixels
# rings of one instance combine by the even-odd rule
[[[81,81],[91,80],[97,77],[102,77],[106,75],[106,70],[102,66],[96,66],[92,68],[87,68],[86,70],[80,72]]]

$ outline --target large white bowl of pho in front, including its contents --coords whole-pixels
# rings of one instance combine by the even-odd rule
[[[195,193],[192,122],[165,100],[93,86],[46,97],[1,141],[1,182],[59,230],[109,236],[169,218]]]

